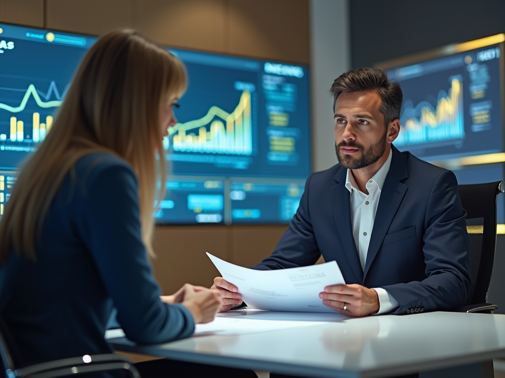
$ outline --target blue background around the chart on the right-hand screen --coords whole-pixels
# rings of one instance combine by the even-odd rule
[[[418,145],[406,145],[400,146],[401,151],[411,151],[414,155],[427,158],[428,160],[443,160],[449,158],[455,158],[460,156],[471,156],[480,155],[485,153],[496,153],[503,151],[502,142],[502,121],[500,108],[502,104],[502,99],[500,96],[500,64],[499,59],[495,58],[492,60],[487,60],[481,62],[480,64],[486,65],[488,67],[488,73],[490,75],[490,81],[487,83],[488,89],[486,90],[486,95],[480,99],[472,99],[470,97],[469,84],[470,77],[467,70],[467,65],[464,63],[464,58],[467,55],[472,57],[472,61],[477,62],[477,52],[480,50],[486,50],[494,46],[486,46],[481,49],[471,50],[467,52],[462,52],[451,57],[444,57],[439,59],[429,60],[427,62],[421,62],[419,65],[425,67],[429,64],[438,64],[451,59],[452,62],[459,61],[461,64],[453,64],[452,68],[450,65],[446,65],[447,69],[438,70],[433,73],[421,74],[415,78],[402,79],[395,75],[396,69],[387,70],[388,75],[396,80],[398,80],[403,91],[403,103],[405,106],[405,101],[411,99],[414,102],[414,106],[420,101],[427,100],[434,107],[436,107],[436,99],[439,90],[445,90],[447,92],[450,87],[448,78],[452,75],[462,75],[463,76],[463,108],[465,117],[465,138],[460,140],[460,143],[446,144],[444,146],[437,146],[437,144],[418,144]],[[503,53],[503,52],[502,52]],[[433,66],[432,66],[433,67]],[[492,128],[490,130],[473,132],[471,130],[472,118],[470,116],[470,104],[478,103],[486,100],[492,101],[492,109],[490,110],[491,124]],[[402,109],[403,110],[403,109]],[[405,125],[402,125],[402,127]]]

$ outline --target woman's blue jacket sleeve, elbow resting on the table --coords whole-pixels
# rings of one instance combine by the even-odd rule
[[[91,175],[90,175],[91,176]],[[191,313],[160,300],[141,238],[137,180],[126,165],[110,165],[88,180],[79,219],[84,243],[117,308],[126,336],[152,344],[190,336]]]

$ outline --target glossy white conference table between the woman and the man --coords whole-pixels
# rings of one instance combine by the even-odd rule
[[[250,333],[236,334],[204,332],[160,345],[136,345],[125,337],[109,342],[125,352],[311,377],[375,378],[414,372],[422,377],[485,377],[492,376],[492,370],[491,375],[481,374],[481,363],[489,367],[493,358],[505,357],[501,314],[425,312],[350,319],[328,313],[239,310],[219,316],[226,322],[309,325],[263,332],[253,327]],[[461,365],[465,366],[459,372],[440,373]]]

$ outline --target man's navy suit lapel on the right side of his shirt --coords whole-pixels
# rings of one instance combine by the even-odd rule
[[[382,191],[379,200],[379,206],[375,214],[374,227],[370,244],[368,245],[367,261],[365,263],[364,278],[367,276],[368,270],[377,255],[377,252],[384,240],[384,236],[391,224],[398,207],[400,206],[408,186],[401,183],[400,180],[407,178],[407,163],[406,157],[399,152],[394,146],[393,158],[391,167],[382,186]]]

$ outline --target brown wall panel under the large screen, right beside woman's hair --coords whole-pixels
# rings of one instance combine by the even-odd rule
[[[210,287],[219,272],[205,254],[227,260],[227,227],[158,226],[153,260],[155,276],[165,294],[184,283]]]

